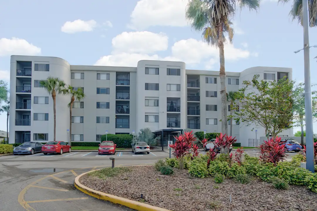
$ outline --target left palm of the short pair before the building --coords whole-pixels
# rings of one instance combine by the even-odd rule
[[[40,82],[41,86],[46,89],[53,98],[54,113],[54,141],[56,141],[56,94],[64,94],[65,82],[60,78],[49,76],[45,81]]]

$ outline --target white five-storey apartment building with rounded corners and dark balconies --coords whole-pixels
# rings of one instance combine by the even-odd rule
[[[100,141],[112,134],[137,133],[141,128],[190,128],[221,132],[218,71],[186,70],[184,62],[141,60],[137,67],[70,65],[57,57],[11,56],[10,143],[53,140],[53,100],[40,81],[58,77],[86,97],[75,100],[72,141]],[[291,68],[252,67],[226,72],[227,91],[237,91],[255,74],[261,79],[292,79]],[[68,141],[70,96],[56,97],[56,140]],[[228,106],[228,115],[230,108]],[[230,128],[231,122],[228,122]],[[232,122],[232,135],[248,146],[265,136],[263,128]],[[281,133],[291,136],[293,130]],[[171,136],[172,137],[172,136]],[[169,138],[171,138],[169,137]]]

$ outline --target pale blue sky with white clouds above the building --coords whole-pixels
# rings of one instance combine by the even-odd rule
[[[10,55],[55,56],[71,65],[137,66],[142,59],[183,61],[186,69],[219,71],[219,50],[185,19],[188,0],[3,1],[0,7],[0,80],[10,83]],[[303,29],[292,22],[291,3],[262,0],[260,9],[237,10],[235,35],[226,44],[225,70],[289,67],[304,81]],[[317,28],[309,29],[310,46]],[[317,83],[317,48],[310,50]],[[6,115],[0,115],[6,131]],[[294,133],[300,130],[294,128]],[[314,123],[317,133],[317,123]]]

